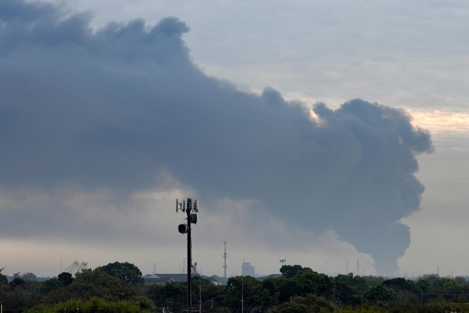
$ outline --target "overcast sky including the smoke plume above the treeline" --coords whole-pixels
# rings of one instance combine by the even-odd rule
[[[0,266],[179,273],[190,197],[204,275],[469,275],[468,14],[2,1]]]

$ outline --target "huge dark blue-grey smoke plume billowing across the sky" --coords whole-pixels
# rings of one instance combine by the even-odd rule
[[[336,110],[316,104],[311,118],[271,88],[254,95],[207,77],[179,19],[96,32],[90,19],[1,1],[3,190],[67,184],[125,198],[164,171],[208,204],[258,200],[291,227],[335,230],[378,271],[397,268],[410,243],[399,220],[424,191],[415,155],[433,150],[409,115],[354,99]]]

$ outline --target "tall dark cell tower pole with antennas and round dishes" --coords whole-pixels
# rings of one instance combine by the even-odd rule
[[[179,211],[186,212],[187,214],[187,224],[179,224],[178,230],[181,234],[188,234],[188,299],[187,299],[187,307],[188,312],[192,312],[192,239],[190,236],[190,225],[197,224],[197,213],[191,213],[192,210],[198,212],[199,209],[197,208],[197,200],[194,200],[193,207],[192,207],[192,199],[188,198],[187,203],[185,200],[183,202],[178,202],[176,199],[176,212]]]

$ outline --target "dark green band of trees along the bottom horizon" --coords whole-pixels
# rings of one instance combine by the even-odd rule
[[[224,286],[192,277],[192,307],[202,312],[469,312],[464,277],[423,275],[417,280],[381,276],[328,276],[300,265],[284,265],[281,278],[231,277]],[[145,284],[127,262],[60,273],[42,282],[28,273],[8,281],[0,274],[0,302],[6,313],[181,312],[186,282]],[[199,299],[201,302],[199,302]]]

